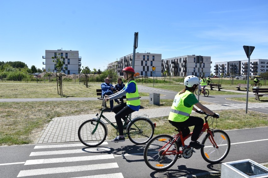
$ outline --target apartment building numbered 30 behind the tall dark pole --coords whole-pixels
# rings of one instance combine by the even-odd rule
[[[135,72],[140,73],[141,76],[161,76],[161,54],[151,53],[135,53]],[[119,61],[112,62],[108,65],[117,71],[119,76],[123,76],[122,69],[125,67],[132,67],[133,53],[123,56]],[[155,67],[153,72],[152,67]]]

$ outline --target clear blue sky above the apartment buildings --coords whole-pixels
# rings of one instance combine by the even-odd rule
[[[268,1],[1,1],[0,61],[42,69],[45,50],[78,50],[82,66],[106,68],[133,52],[215,62],[268,59]],[[103,67],[104,66],[104,67]]]

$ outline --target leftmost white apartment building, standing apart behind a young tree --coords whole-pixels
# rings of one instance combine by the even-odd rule
[[[43,62],[43,70],[50,72],[56,72],[56,64],[53,62],[51,57],[63,56],[65,59],[63,60],[64,65],[61,69],[65,74],[78,74],[81,67],[81,56],[79,56],[79,51],[72,50],[46,50],[46,55],[43,56],[45,62]],[[66,69],[64,68],[66,67]]]

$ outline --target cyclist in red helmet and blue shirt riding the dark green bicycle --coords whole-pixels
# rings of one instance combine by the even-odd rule
[[[116,105],[113,108],[119,135],[113,140],[111,140],[112,142],[125,141],[123,132],[124,128],[121,119],[123,119],[125,122],[129,122],[129,120],[126,120],[126,116],[129,115],[130,113],[133,113],[134,111],[138,111],[141,105],[137,83],[134,81],[134,74],[135,74],[134,69],[132,67],[126,67],[122,70],[122,72],[124,72],[124,79],[127,81],[126,86],[122,90],[113,95],[104,96],[105,101],[108,101],[126,95],[126,102]]]

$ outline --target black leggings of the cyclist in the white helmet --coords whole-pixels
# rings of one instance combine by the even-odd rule
[[[197,141],[198,136],[203,128],[204,120],[199,117],[190,116],[186,121],[174,122],[169,120],[169,123],[174,127],[181,129],[182,137],[185,137],[190,134],[190,129],[188,127],[194,126],[191,140]]]

